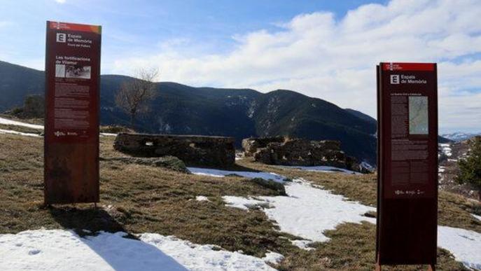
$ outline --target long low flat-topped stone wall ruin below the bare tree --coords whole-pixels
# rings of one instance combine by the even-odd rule
[[[175,156],[186,165],[226,167],[235,163],[233,137],[120,133],[116,151],[141,157]]]

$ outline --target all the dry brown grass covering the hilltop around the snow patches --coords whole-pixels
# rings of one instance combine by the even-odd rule
[[[113,150],[113,137],[101,137],[102,157],[124,156]],[[222,195],[278,195],[235,176],[212,178],[182,174],[158,167],[101,162],[100,208],[92,204],[43,207],[43,139],[0,134],[0,233],[36,228],[73,228],[130,233],[158,232],[199,244],[217,244],[230,251],[264,256],[267,250],[286,256],[281,270],[372,270],[375,225],[339,225],[326,232],[330,242],[314,251],[293,246],[295,237],[279,232],[262,211],[225,207]],[[375,203],[375,176],[302,172],[239,161],[241,169],[302,177],[364,204]],[[198,202],[197,195],[210,202]],[[467,216],[471,206],[455,195],[441,195],[440,221],[480,231]],[[461,217],[461,218],[459,218]],[[460,270],[449,253],[440,251],[440,270]],[[414,268],[414,269],[413,269]],[[393,270],[393,269],[392,269]],[[399,270],[399,269],[396,269]],[[410,267],[406,270],[416,270]]]

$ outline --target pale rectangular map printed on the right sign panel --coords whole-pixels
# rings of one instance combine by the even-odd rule
[[[428,97],[409,97],[409,133],[428,134]]]

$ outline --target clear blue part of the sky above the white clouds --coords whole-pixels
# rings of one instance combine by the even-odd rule
[[[11,1],[1,0],[0,60],[43,69],[45,22],[81,22],[103,27],[104,61],[172,41],[195,43],[202,53],[225,53],[236,46],[235,34],[274,30],[295,15],[332,11],[342,17],[368,1]],[[379,1],[384,2],[384,1]],[[26,42],[27,41],[27,42]],[[104,67],[103,73],[110,73]]]

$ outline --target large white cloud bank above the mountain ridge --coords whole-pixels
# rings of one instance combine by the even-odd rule
[[[160,66],[162,81],[291,89],[375,116],[375,64],[438,62],[440,127],[481,130],[481,6],[476,0],[393,0],[333,13],[301,14],[277,31],[235,34],[225,54],[186,55],[179,42],[116,60],[113,72]],[[172,44],[172,46],[169,46]],[[473,57],[475,55],[476,57]]]

